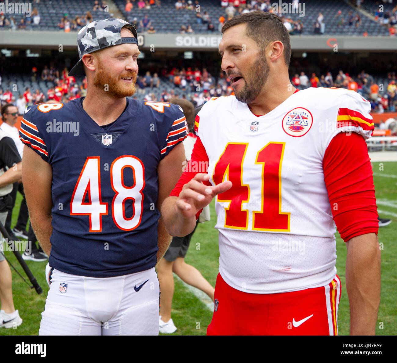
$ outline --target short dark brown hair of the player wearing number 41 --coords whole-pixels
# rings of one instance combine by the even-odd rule
[[[239,24],[247,24],[247,35],[255,40],[259,48],[264,49],[269,43],[280,40],[284,44],[284,60],[287,67],[291,60],[291,42],[283,21],[274,13],[260,12],[237,15],[225,22],[222,35],[227,29]]]

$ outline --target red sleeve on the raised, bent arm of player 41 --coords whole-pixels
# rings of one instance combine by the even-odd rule
[[[206,173],[208,169],[208,156],[205,151],[204,145],[202,144],[200,137],[197,136],[195,145],[193,146],[193,151],[191,159],[188,161],[185,170],[183,171],[181,177],[173,188],[170,196],[179,196],[182,187],[191,179],[195,177],[198,173]],[[206,185],[211,185],[209,181],[204,182]],[[200,215],[202,209],[196,214],[196,218]]]

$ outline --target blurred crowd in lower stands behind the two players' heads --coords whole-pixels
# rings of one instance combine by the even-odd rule
[[[54,66],[44,65],[40,75],[36,67],[32,68],[29,80],[44,81],[48,87],[44,94],[40,89],[27,87],[23,92],[13,92],[11,85],[1,84],[0,102],[2,105],[13,103],[23,114],[25,108],[41,102],[69,102],[75,98],[85,96],[87,80],[77,82],[75,77],[67,76],[68,70],[58,71]],[[337,87],[358,92],[371,102],[372,112],[394,112],[397,107],[397,79],[395,72],[387,74],[387,84],[378,84],[374,77],[365,71],[356,76],[340,70],[336,75],[331,72],[306,75],[303,71],[291,78],[294,87],[302,90],[308,87]],[[160,92],[160,89],[162,92]],[[179,91],[179,92],[178,92]],[[233,94],[233,87],[224,72],[218,77],[211,75],[206,68],[172,67],[170,70],[162,68],[158,73],[147,71],[137,78],[137,92],[135,99],[146,101],[169,102],[173,97],[187,99],[195,107],[201,106],[211,97],[229,96]]]

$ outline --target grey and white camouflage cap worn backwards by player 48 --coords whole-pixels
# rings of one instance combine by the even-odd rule
[[[121,28],[127,26],[134,37],[121,38]],[[69,76],[85,76],[83,67],[84,54],[93,53],[113,45],[123,43],[138,44],[137,31],[130,23],[119,18],[95,20],[81,28],[77,34],[77,49],[79,50],[79,61],[69,72]]]

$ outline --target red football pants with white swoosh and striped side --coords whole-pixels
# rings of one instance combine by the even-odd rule
[[[341,282],[278,294],[251,294],[218,274],[207,335],[337,335]]]

